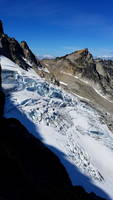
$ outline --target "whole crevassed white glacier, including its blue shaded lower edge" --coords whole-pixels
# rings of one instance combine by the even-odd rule
[[[64,164],[73,185],[113,199],[113,135],[99,113],[1,56],[5,117],[16,117]]]

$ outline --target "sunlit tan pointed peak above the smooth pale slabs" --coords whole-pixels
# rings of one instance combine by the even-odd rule
[[[89,53],[88,49],[75,51],[72,54],[52,60],[42,60],[42,64],[48,66],[50,72],[55,75],[59,71],[59,73],[67,73],[94,81],[99,81],[100,78],[99,73],[96,71],[93,56]]]

